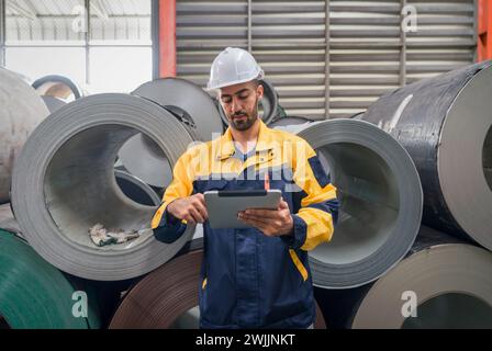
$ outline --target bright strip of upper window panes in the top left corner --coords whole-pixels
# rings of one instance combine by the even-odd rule
[[[83,41],[74,21],[83,15],[83,0],[8,0],[7,42]],[[150,41],[150,1],[91,0],[91,39]]]

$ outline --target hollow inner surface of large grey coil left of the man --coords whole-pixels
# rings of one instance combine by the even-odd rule
[[[156,207],[128,199],[114,177],[118,151],[136,133],[123,125],[99,125],[74,135],[55,151],[43,182],[45,204],[66,239],[99,250],[124,250],[152,236],[145,230],[136,239],[101,248],[89,236],[98,223],[110,230],[149,228]]]

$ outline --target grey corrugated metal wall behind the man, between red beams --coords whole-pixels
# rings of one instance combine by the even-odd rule
[[[405,5],[416,10],[415,33],[401,30]],[[474,59],[473,0],[178,0],[177,11],[180,77],[204,87],[222,48],[250,49],[289,115],[350,116]]]

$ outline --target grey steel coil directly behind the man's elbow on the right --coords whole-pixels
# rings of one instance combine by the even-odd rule
[[[310,251],[313,284],[347,288],[377,280],[406,254],[420,228],[422,186],[409,154],[362,121],[282,128],[316,149],[340,202],[332,240]]]

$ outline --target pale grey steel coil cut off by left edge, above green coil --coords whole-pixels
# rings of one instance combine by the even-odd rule
[[[31,132],[49,112],[18,75],[0,67],[0,204],[9,202],[14,160]]]

